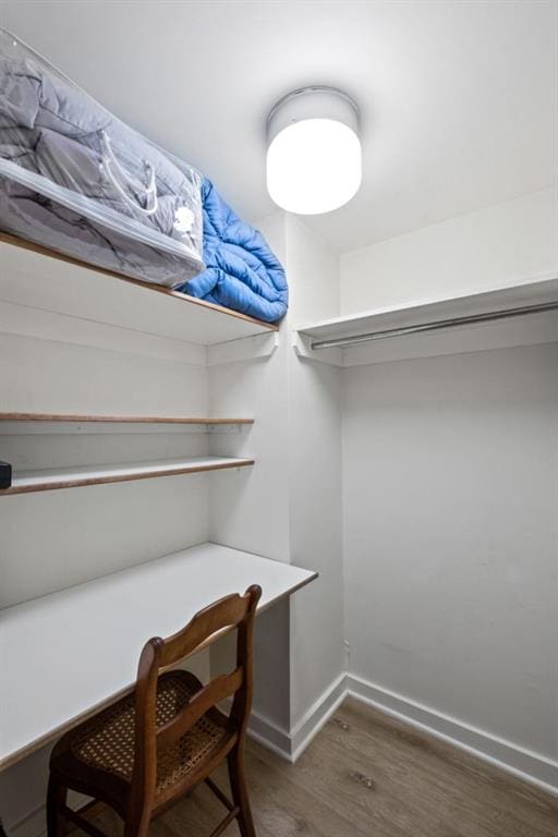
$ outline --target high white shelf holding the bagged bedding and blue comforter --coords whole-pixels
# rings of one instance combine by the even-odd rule
[[[198,345],[277,331],[221,305],[0,233],[0,300]]]

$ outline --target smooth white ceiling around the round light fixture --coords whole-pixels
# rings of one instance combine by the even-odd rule
[[[362,111],[363,185],[303,219],[341,251],[558,180],[555,0],[4,0],[0,24],[251,220],[274,208],[270,106],[343,88]]]

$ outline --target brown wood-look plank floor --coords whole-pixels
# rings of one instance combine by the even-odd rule
[[[295,765],[251,741],[247,773],[257,837],[558,837],[558,798],[351,699]],[[222,811],[204,786],[150,835],[204,837]]]

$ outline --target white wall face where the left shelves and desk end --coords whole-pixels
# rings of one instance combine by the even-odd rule
[[[263,219],[259,229],[284,264],[286,219],[282,213]],[[209,538],[236,549],[290,562],[288,473],[288,368],[286,324],[279,345],[267,359],[223,363],[208,369],[211,415],[247,415],[254,426],[240,445],[233,437],[214,440],[217,453],[231,446],[239,456],[253,456],[254,469],[245,469],[232,485],[226,474],[215,473],[210,485]],[[274,607],[258,617],[255,631],[254,711],[288,738],[290,725],[289,605]],[[233,655],[231,640],[211,648],[211,670],[227,670]]]

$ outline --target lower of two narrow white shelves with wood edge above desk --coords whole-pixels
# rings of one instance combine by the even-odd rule
[[[49,492],[56,488],[77,488],[105,483],[124,483],[133,480],[149,480],[158,476],[195,474],[203,471],[222,471],[228,468],[253,465],[253,459],[233,457],[189,457],[187,459],[165,459],[153,462],[134,462],[108,465],[76,465],[41,471],[15,471],[10,488],[0,490],[0,496]]]

